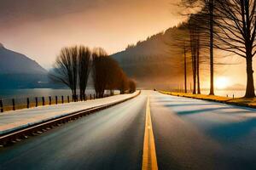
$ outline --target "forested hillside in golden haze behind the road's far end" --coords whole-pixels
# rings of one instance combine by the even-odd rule
[[[170,88],[183,83],[182,56],[170,50],[179,26],[160,32],[145,41],[129,45],[125,51],[113,54],[125,73],[137,81],[140,88]]]

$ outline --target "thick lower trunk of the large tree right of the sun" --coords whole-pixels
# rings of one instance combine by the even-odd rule
[[[255,97],[255,89],[253,82],[253,58],[252,54],[247,55],[247,89],[246,89],[246,98]]]

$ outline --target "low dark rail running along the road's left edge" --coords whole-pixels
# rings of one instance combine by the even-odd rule
[[[38,133],[43,133],[44,131],[47,131],[47,130],[53,128],[53,127],[60,126],[63,123],[71,122],[73,120],[76,120],[79,117],[87,116],[87,115],[90,115],[91,113],[94,113],[96,111],[102,111],[102,110],[107,109],[109,107],[112,107],[114,105],[118,105],[120,103],[123,103],[127,100],[134,99],[140,94],[141,94],[141,91],[139,91],[136,95],[131,96],[130,98],[122,99],[120,101],[113,102],[113,103],[108,104],[108,105],[100,105],[100,106],[96,106],[96,107],[86,109],[86,110],[83,110],[83,111],[76,111],[76,112],[70,113],[66,116],[53,118],[53,119],[45,121],[45,122],[41,122],[41,123],[34,124],[32,126],[29,126],[29,127],[21,128],[19,130],[16,130],[15,132],[2,134],[0,136],[0,145],[13,144],[17,141],[20,141],[21,139],[26,139],[28,136],[33,136],[33,135],[36,135]]]

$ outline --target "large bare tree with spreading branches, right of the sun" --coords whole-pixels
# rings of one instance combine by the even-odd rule
[[[215,0],[218,4],[218,31],[216,46],[246,59],[247,88],[245,97],[255,97],[253,83],[253,56],[256,54],[256,1]]]

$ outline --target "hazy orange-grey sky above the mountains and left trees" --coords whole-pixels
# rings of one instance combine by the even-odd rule
[[[178,0],[1,0],[0,42],[49,68],[63,46],[109,54],[179,22]]]

